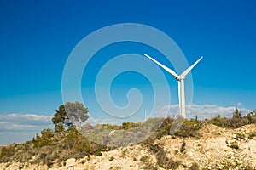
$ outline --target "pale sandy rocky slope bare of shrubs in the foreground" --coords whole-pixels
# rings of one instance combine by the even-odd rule
[[[237,129],[216,127],[212,124],[201,128],[201,138],[164,136],[154,145],[164,150],[177,169],[256,169],[256,125]],[[34,158],[33,158],[34,159]],[[49,169],[43,163],[7,162],[0,169]],[[175,166],[174,166],[175,167]],[[173,167],[173,168],[174,168]],[[165,167],[164,167],[165,168]],[[147,144],[134,144],[108,152],[55,163],[50,169],[164,169]]]

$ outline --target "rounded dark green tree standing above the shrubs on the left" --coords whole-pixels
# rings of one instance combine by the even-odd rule
[[[67,102],[65,105],[61,105],[52,118],[52,122],[55,125],[55,132],[61,132],[65,127],[82,127],[84,122],[89,118],[88,112],[88,108],[79,102]]]

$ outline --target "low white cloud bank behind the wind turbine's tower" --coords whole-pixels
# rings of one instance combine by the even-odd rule
[[[241,115],[247,115],[250,110],[246,108],[238,107],[241,111]],[[188,118],[195,118],[197,115],[200,119],[211,118],[214,116],[232,116],[235,111],[234,106],[223,107],[218,105],[186,105],[186,111]],[[156,112],[156,116],[177,116],[178,114],[178,105],[166,105]]]

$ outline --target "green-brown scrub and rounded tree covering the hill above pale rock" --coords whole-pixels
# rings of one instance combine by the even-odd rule
[[[71,157],[78,159],[84,156],[90,158],[91,155],[101,156],[102,151],[114,149],[114,147],[110,147],[111,144],[116,144],[115,146],[119,147],[135,141],[133,144],[145,144],[157,159],[156,165],[152,165],[148,163],[148,156],[141,157],[140,161],[143,162],[146,169],[157,169],[157,167],[175,169],[181,165],[181,162],[168,158],[159,145],[154,145],[155,139],[160,139],[166,135],[172,135],[172,138],[192,137],[200,139],[199,130],[207,123],[225,128],[236,128],[256,123],[256,110],[251,111],[247,116],[241,116],[241,112],[237,108],[231,118],[218,116],[204,121],[197,118],[191,120],[182,118],[177,120],[172,117],[149,118],[146,122],[124,122],[120,126],[84,124],[89,117],[87,113],[88,109],[78,102],[61,105],[52,118],[55,125],[54,130],[44,129],[40,134],[37,133],[35,138],[24,144],[10,144],[0,147],[0,162],[32,160],[32,163],[43,162],[51,167],[54,162],[65,161]],[[171,127],[178,127],[177,131],[170,133]],[[150,132],[154,133],[149,135]],[[84,133],[90,135],[90,140],[84,137]],[[245,138],[243,134],[236,133],[236,135],[239,139]],[[256,133],[253,132],[248,135],[248,139],[253,139],[255,136]],[[185,151],[185,146],[186,143],[183,142],[179,150],[180,153]],[[238,145],[231,145],[230,147],[239,149]],[[125,158],[127,152],[128,150],[122,150],[121,157]],[[113,157],[109,159],[109,161],[113,160]],[[136,158],[134,160],[136,161]],[[190,167],[190,169],[198,168],[197,164]]]

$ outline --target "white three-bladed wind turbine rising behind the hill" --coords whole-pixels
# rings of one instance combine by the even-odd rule
[[[201,59],[203,57],[201,56],[200,59],[197,59],[197,61],[195,61],[195,63],[193,65],[189,66],[189,68],[187,70],[183,71],[183,73],[178,76],[175,71],[172,71],[171,69],[166,67],[166,65],[160,64],[160,62],[158,62],[157,60],[153,59],[148,54],[144,54],[144,55],[146,57],[148,57],[148,59],[151,59],[152,61],[154,61],[154,63],[156,63],[157,65],[160,65],[160,67],[165,69],[167,72],[172,74],[173,77],[176,77],[176,80],[178,82],[179,114],[180,114],[180,116],[183,116],[184,118],[186,118],[184,80],[185,80],[187,74],[189,73],[189,71],[191,71],[195,67],[195,65],[197,65],[197,63],[199,63],[199,61],[201,61]]]

